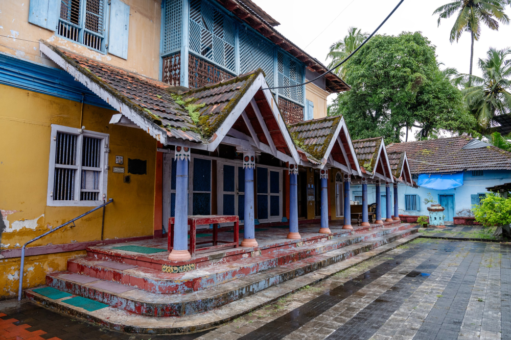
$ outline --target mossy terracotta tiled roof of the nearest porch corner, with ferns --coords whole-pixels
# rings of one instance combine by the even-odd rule
[[[67,63],[85,74],[110,95],[123,101],[130,109],[157,125],[162,134],[177,139],[201,143],[213,136],[261,69],[240,75],[223,83],[181,93],[179,87],[89,59],[70,51],[48,45]],[[177,92],[180,93],[180,92]],[[179,102],[182,100],[183,102]],[[194,122],[189,114],[190,104],[200,113]]]

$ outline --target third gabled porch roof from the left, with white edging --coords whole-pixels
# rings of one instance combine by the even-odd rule
[[[374,178],[376,176],[385,181],[394,182],[382,137],[355,140],[353,146],[366,177]]]

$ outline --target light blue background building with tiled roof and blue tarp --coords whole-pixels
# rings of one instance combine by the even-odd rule
[[[445,207],[445,220],[473,216],[488,187],[511,178],[511,153],[467,136],[396,143],[389,155],[406,152],[410,172],[419,188],[399,185],[399,214],[428,215],[425,198]],[[461,219],[460,219],[461,220]]]

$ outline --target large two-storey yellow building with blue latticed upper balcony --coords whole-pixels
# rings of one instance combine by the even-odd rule
[[[8,178],[0,188],[0,296],[16,294],[22,245],[109,198],[103,215],[30,244],[25,287],[65,269],[89,245],[166,235],[178,195],[177,146],[192,148],[190,215],[244,220],[247,151],[255,157],[254,224],[289,224],[289,164],[319,201],[316,177],[337,163],[310,163],[286,123],[326,117],[327,96],[349,87],[328,74],[271,89],[327,68],[251,1],[12,0],[1,7],[0,25],[10,34],[0,37],[0,175]],[[196,122],[190,112],[208,118]],[[349,148],[345,126],[339,138]],[[350,157],[349,171],[358,173]],[[319,222],[318,209],[298,209],[300,223]]]

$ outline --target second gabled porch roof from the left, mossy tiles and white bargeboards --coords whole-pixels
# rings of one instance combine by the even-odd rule
[[[301,165],[322,169],[329,164],[350,174],[362,174],[342,116],[295,123],[290,125],[290,132]]]

